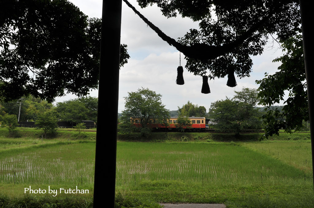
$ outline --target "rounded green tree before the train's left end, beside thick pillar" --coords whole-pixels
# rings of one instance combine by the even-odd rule
[[[125,99],[125,110],[122,111],[124,123],[133,123],[132,118],[139,118],[141,130],[149,128],[149,123],[162,124],[169,119],[169,110],[161,102],[161,94],[149,90],[148,88],[138,89],[130,92]]]

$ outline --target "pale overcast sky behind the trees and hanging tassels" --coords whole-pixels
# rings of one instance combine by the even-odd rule
[[[101,18],[102,1],[100,0],[70,0],[89,17]],[[198,28],[198,23],[188,18],[165,18],[159,8],[152,6],[141,9],[135,0],[129,1],[146,18],[159,27],[171,38],[183,37],[191,28]],[[124,98],[128,92],[137,91],[138,88],[149,88],[162,95],[162,102],[167,109],[177,110],[189,100],[193,104],[205,106],[209,109],[211,102],[233,97],[234,91],[241,91],[243,87],[258,88],[255,80],[263,79],[264,73],[274,74],[280,63],[272,60],[282,55],[279,45],[271,43],[265,48],[263,55],[253,57],[253,67],[250,77],[236,78],[237,86],[226,86],[227,78],[209,81],[210,94],[202,94],[202,77],[194,76],[185,68],[183,77],[185,84],[177,85],[176,68],[179,66],[179,51],[164,42],[157,34],[143,22],[127,5],[122,2],[121,43],[127,44],[131,58],[120,70],[119,82],[119,112],[124,109]],[[181,54],[181,65],[185,66],[184,55]],[[90,92],[97,97],[97,90]],[[56,98],[57,102],[75,98],[73,95]]]

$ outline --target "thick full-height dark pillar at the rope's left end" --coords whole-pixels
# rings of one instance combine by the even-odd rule
[[[121,5],[122,0],[103,0],[102,6],[94,208],[114,207]]]

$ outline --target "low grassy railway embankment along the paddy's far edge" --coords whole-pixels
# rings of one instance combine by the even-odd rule
[[[16,129],[13,135],[8,135],[8,130],[0,128],[0,137],[10,138],[30,138],[41,139],[45,138],[45,134],[40,129]],[[73,129],[58,129],[53,134],[47,134],[47,139],[66,139],[66,140],[95,140],[96,131],[86,130],[78,132]],[[140,132],[127,134],[118,133],[118,140],[123,141],[143,141],[143,142],[165,142],[165,141],[258,141],[266,140],[263,138],[263,133],[215,133],[215,132],[151,132],[145,136]],[[293,134],[280,133],[279,136],[273,135],[268,137],[268,140],[308,140],[310,139],[309,132],[295,132]]]

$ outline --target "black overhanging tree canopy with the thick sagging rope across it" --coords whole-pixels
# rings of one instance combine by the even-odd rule
[[[181,1],[138,0],[142,7],[156,4],[167,18],[182,17],[199,21],[199,30],[190,29],[176,41],[123,0],[164,41],[185,55],[186,68],[194,75],[210,79],[236,73],[249,76],[251,55],[263,53],[268,37],[280,40],[294,36],[300,24],[299,3],[293,0],[273,1]],[[231,75],[230,75],[231,76]]]

